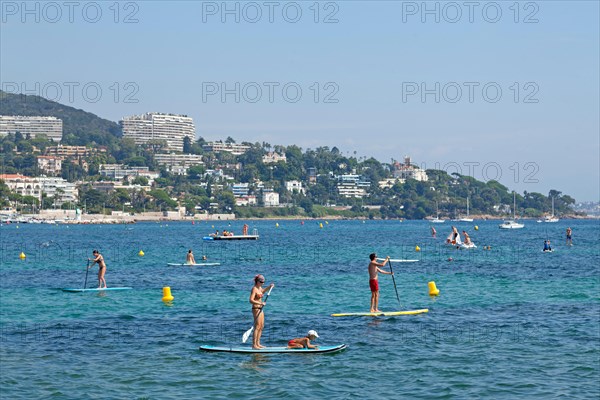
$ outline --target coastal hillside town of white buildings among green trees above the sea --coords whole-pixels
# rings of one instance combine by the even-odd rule
[[[19,108],[24,97],[31,96],[9,98],[7,108],[25,109]],[[196,138],[192,118],[158,112],[127,116],[117,125],[71,109],[65,127],[61,112],[0,116],[5,216],[424,219],[513,213],[512,191],[500,183],[424,170],[408,155],[382,163],[337,147],[205,141]],[[575,208],[575,199],[558,190],[515,197],[514,211],[524,218],[598,211],[597,205]]]

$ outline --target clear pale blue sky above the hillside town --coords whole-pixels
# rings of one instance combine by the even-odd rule
[[[599,2],[1,1],[0,82],[600,200]]]

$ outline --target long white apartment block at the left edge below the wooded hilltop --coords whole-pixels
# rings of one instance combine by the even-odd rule
[[[62,140],[62,119],[56,117],[25,117],[21,115],[0,115],[0,137],[9,133],[21,132],[34,138],[46,135],[55,142]]]

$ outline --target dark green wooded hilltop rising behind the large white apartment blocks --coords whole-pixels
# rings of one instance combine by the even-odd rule
[[[107,146],[121,136],[120,126],[95,114],[66,106],[40,96],[6,93],[0,90],[0,115],[48,116],[63,121],[63,144]]]

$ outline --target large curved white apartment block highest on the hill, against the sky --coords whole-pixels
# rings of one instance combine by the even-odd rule
[[[124,117],[120,121],[123,137],[131,138],[135,144],[146,144],[154,140],[164,140],[168,150],[183,151],[183,139],[196,137],[194,121],[187,115],[146,113]]]

